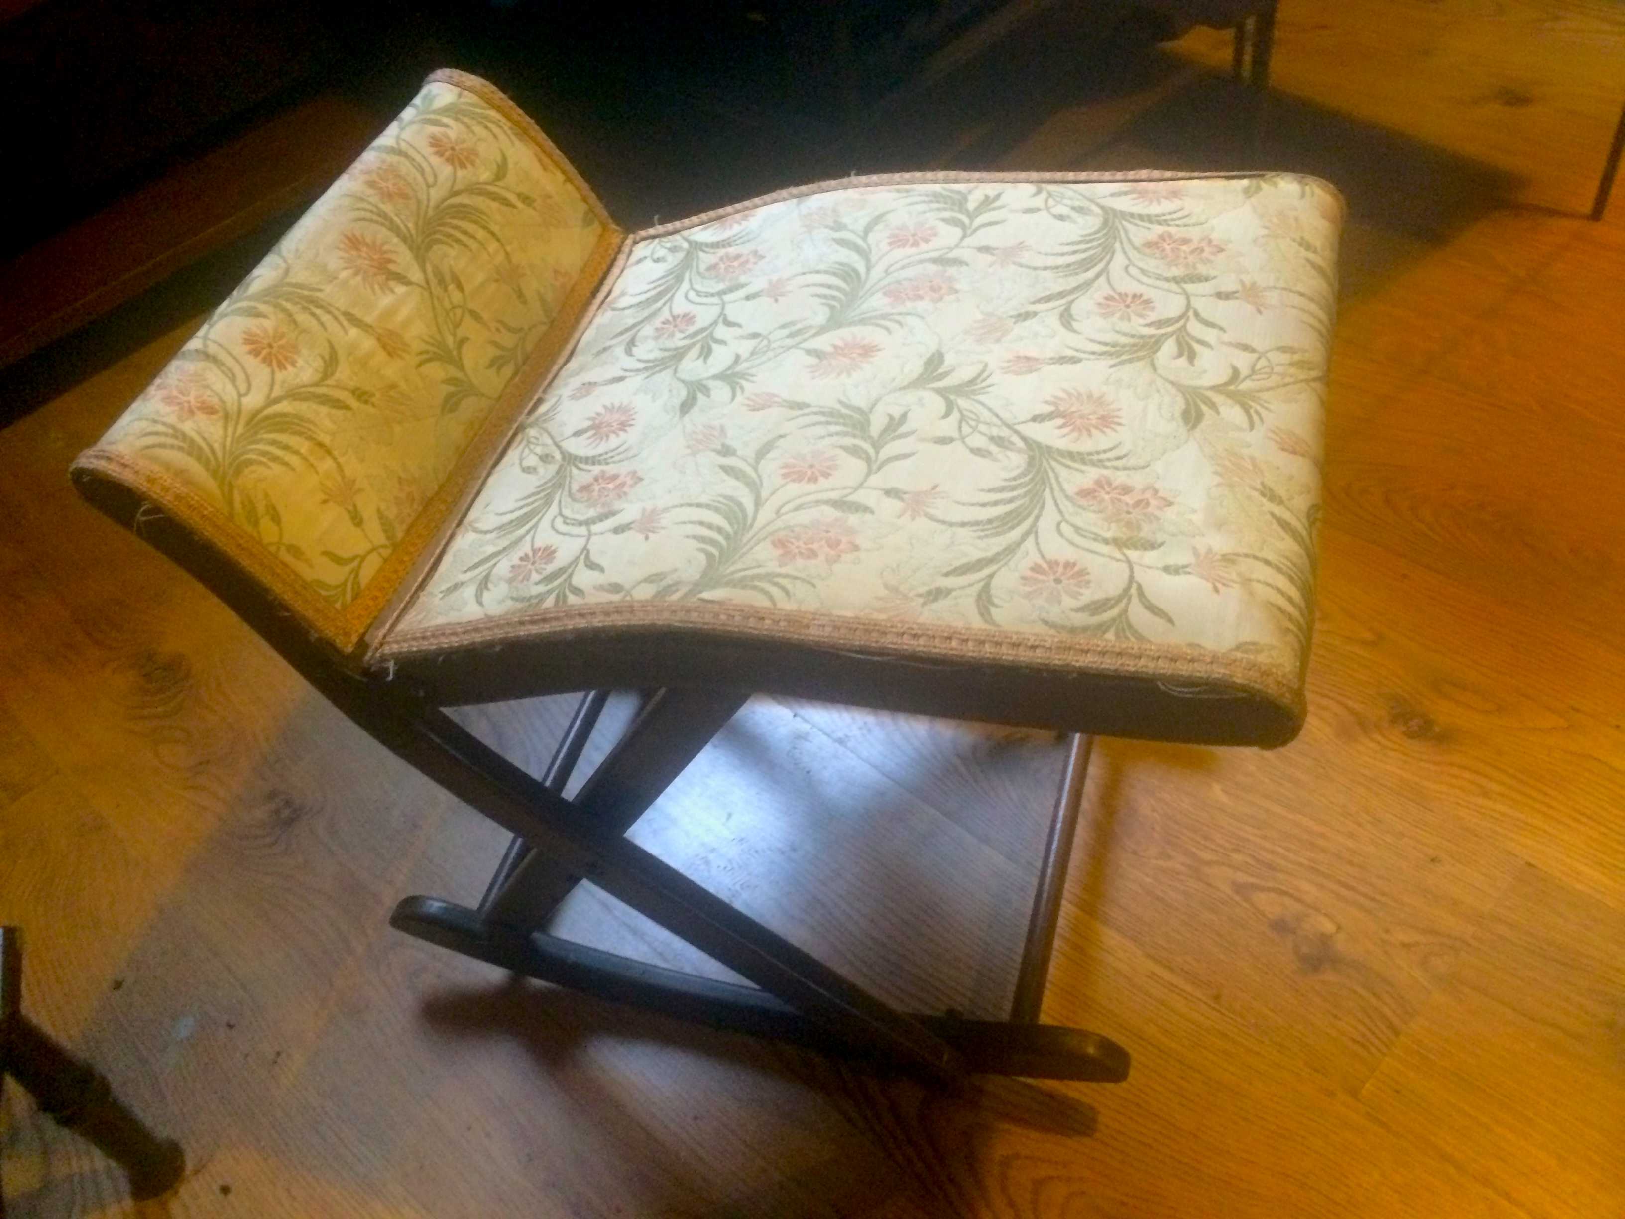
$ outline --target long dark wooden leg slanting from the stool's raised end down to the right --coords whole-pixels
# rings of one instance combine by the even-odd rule
[[[115,520],[133,523],[141,514],[140,497],[117,484],[91,479],[81,489]],[[604,770],[601,780],[598,775],[593,780],[604,783],[606,792],[611,783],[621,785],[622,792],[630,793],[627,805],[609,808],[606,796],[604,818],[585,816],[577,801],[549,790],[546,783],[466,731],[440,710],[426,691],[396,681],[388,673],[359,671],[348,658],[335,655],[325,644],[312,639],[231,562],[213,551],[200,551],[188,530],[162,514],[141,517],[141,533],[148,541],[208,583],[289,665],[379,744],[523,839],[569,876],[592,881],[658,926],[686,939],[748,982],[754,982],[795,1011],[798,1019],[817,1026],[822,1035],[847,1050],[938,1082],[957,1084],[964,1078],[965,1058],[954,1042],[939,1032],[939,1026],[926,1024],[881,1003],[850,978],[734,910],[618,831],[629,808],[639,801],[645,801],[647,808],[647,801],[653,801],[717,727],[726,722],[743,696],[699,696],[702,701],[694,701],[696,696],[674,696],[670,710],[652,712],[663,720],[670,718],[670,731],[634,733],[626,743],[624,762]],[[702,705],[708,705],[704,717],[696,712]],[[704,723],[704,731],[699,723],[702,718],[708,720]],[[639,774],[639,767],[634,766],[639,756],[648,767],[647,775]],[[518,871],[514,879],[518,879]],[[523,939],[522,931],[491,918],[479,918],[476,912],[470,912],[470,917],[489,938],[507,943]],[[473,949],[470,946],[463,951]],[[1029,1048],[1035,1045],[1030,1040],[1035,1035],[1034,1026],[993,1027],[993,1034],[983,1030],[977,1035],[983,1042],[1003,1035],[1009,1039],[1009,1045]]]

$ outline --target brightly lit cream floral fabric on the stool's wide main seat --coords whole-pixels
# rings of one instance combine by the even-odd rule
[[[1341,219],[1292,176],[908,182],[644,234],[384,650],[717,611],[1295,689]]]

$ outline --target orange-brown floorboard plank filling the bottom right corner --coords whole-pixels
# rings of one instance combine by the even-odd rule
[[[1531,1216],[1617,1216],[1625,912],[1524,870],[1362,1099]]]

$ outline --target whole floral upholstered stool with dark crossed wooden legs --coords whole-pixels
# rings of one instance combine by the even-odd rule
[[[1037,1024],[1087,733],[1303,720],[1342,205],[1284,174],[910,174],[622,234],[436,73],[80,489],[517,839],[395,923],[760,1035],[1118,1079]],[[531,777],[444,707],[603,696]],[[751,691],[1076,733],[1012,1022],[908,1016],[622,837]],[[756,987],[548,935],[582,878]]]

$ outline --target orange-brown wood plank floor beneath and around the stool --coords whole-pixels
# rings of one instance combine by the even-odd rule
[[[13,1216],[1625,1214],[1625,200],[1573,215],[1625,23],[1497,11],[1285,5],[1271,153],[1354,205],[1311,714],[1277,753],[1097,751],[1045,1014],[1133,1050],[1116,1087],[941,1095],[390,931],[502,835],[68,489],[187,328],[0,432],[0,920],[32,1016],[192,1169],[132,1208],[8,1089]],[[1225,89],[1180,70],[1090,163],[1216,158]],[[1074,166],[1098,114],[972,135]],[[474,723],[531,759],[564,714]],[[635,835],[884,996],[993,1014],[1058,769],[757,699]]]

